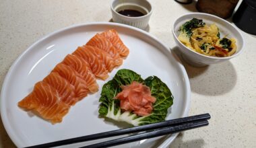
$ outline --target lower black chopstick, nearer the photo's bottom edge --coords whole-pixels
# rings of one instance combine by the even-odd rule
[[[189,122],[189,123],[176,125],[176,126],[172,126],[172,127],[160,128],[156,131],[152,131],[152,132],[148,132],[148,133],[141,133],[141,134],[132,135],[132,136],[129,136],[129,137],[123,137],[123,138],[120,138],[120,139],[114,139],[114,140],[111,140],[111,141],[96,143],[94,145],[87,145],[85,147],[80,147],[80,148],[112,147],[112,146],[115,146],[115,145],[122,145],[122,144],[125,144],[125,143],[131,143],[133,141],[139,141],[139,140],[143,140],[143,139],[159,137],[159,136],[168,135],[168,134],[172,134],[172,133],[178,133],[178,132],[186,131],[186,130],[193,129],[193,128],[199,128],[201,126],[207,126],[208,124],[209,124],[209,122],[204,119],[204,120]]]

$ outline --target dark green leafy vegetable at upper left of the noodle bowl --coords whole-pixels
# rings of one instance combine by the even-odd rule
[[[185,32],[189,38],[192,36],[192,29],[193,28],[200,28],[205,26],[203,20],[199,20],[197,18],[193,18],[192,20],[185,22],[180,28],[182,32]]]

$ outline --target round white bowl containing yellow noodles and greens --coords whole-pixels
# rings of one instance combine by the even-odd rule
[[[221,38],[226,35],[227,38],[235,38],[237,46],[236,52],[230,57],[210,57],[187,48],[187,46],[185,46],[181,41],[178,40],[179,28],[182,24],[191,20],[193,17],[203,20],[203,22],[208,25],[216,24],[216,26],[218,26],[220,30]],[[230,24],[226,20],[223,20],[220,17],[207,13],[187,13],[185,15],[182,15],[181,17],[177,18],[177,20],[172,25],[172,34],[174,36],[175,42],[179,46],[179,50],[181,50],[181,52],[183,53],[183,59],[187,63],[195,67],[204,67],[207,65],[212,65],[232,59],[238,54],[241,54],[244,46],[242,34],[234,26],[232,26],[232,24]]]

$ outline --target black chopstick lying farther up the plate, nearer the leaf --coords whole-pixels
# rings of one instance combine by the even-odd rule
[[[114,137],[114,136],[118,136],[118,135],[134,133],[134,132],[152,130],[152,129],[156,129],[156,128],[163,128],[166,126],[174,126],[174,125],[179,125],[179,124],[183,124],[186,122],[207,120],[210,118],[211,118],[210,114],[199,114],[196,116],[189,116],[189,117],[185,117],[185,118],[166,120],[164,122],[158,122],[158,123],[154,123],[154,124],[135,126],[132,128],[124,128],[124,129],[120,129],[120,130],[98,133],[98,134],[94,134],[94,135],[87,135],[87,136],[83,136],[83,137],[65,139],[65,140],[55,141],[55,142],[51,142],[51,143],[44,143],[41,145],[34,145],[34,146],[26,147],[26,148],[57,147],[57,146],[61,146],[61,145],[69,145],[69,144],[73,144],[73,143],[80,143],[80,142],[84,142],[84,141],[91,141],[91,140],[102,139],[102,138],[106,138],[106,137]]]

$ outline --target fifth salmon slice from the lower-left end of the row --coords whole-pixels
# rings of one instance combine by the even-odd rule
[[[115,63],[115,59],[110,57],[107,52],[101,50],[100,48],[97,48],[96,46],[85,45],[83,46],[83,48],[84,50],[86,50],[86,52],[91,52],[96,57],[98,57],[104,63],[108,72],[112,71],[118,65],[117,63]]]

